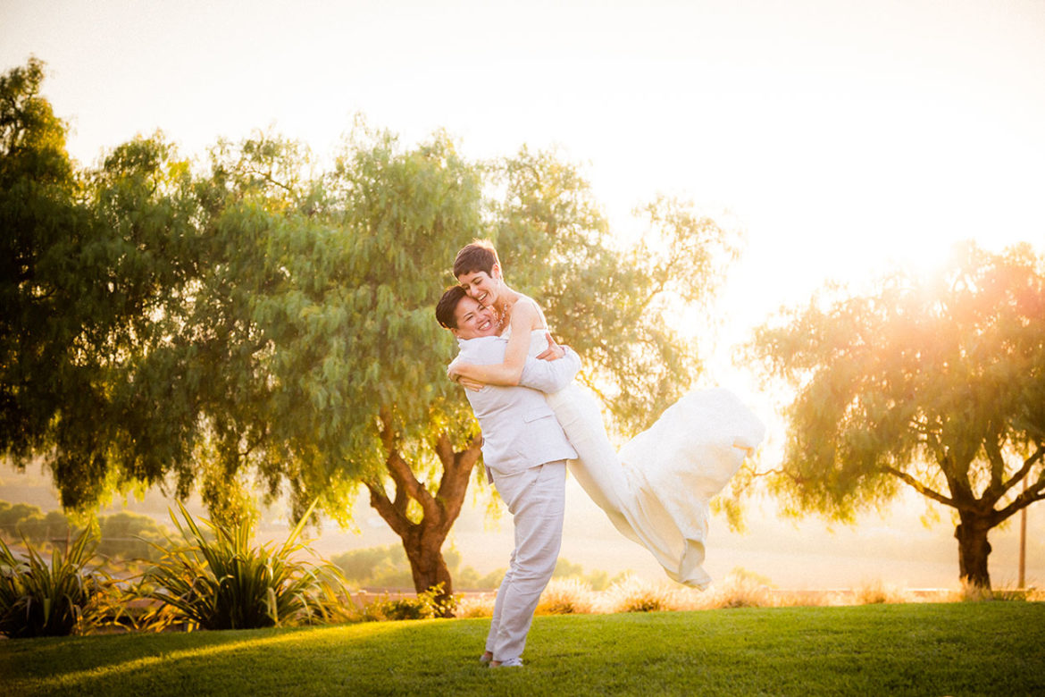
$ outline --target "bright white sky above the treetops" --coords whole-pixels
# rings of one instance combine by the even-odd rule
[[[953,241],[1045,248],[1045,0],[0,0],[83,163],[356,113],[471,157],[558,145],[610,219],[657,192],[732,212],[732,339],[827,278]]]

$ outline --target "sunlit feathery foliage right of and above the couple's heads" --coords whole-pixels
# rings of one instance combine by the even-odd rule
[[[698,347],[659,319],[714,297],[738,235],[660,196],[635,211],[642,236],[622,249],[576,166],[524,147],[494,173],[505,190],[493,236],[506,279],[583,357],[582,379],[618,427],[646,427],[700,370]]]

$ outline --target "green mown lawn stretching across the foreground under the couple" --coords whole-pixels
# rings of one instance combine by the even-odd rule
[[[539,617],[522,669],[489,620],[0,641],[6,695],[1045,694],[1045,604]]]

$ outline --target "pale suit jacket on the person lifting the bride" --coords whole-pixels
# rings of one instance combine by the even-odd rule
[[[458,361],[475,365],[504,363],[508,341],[500,336],[458,340]],[[512,474],[556,460],[571,460],[577,451],[566,440],[544,393],[570,385],[581,368],[580,357],[566,348],[558,361],[528,357],[519,387],[488,385],[466,390],[471,410],[483,431],[483,462],[497,474]]]

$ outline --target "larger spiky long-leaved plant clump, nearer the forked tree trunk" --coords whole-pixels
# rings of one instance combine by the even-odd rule
[[[181,503],[179,508],[184,525],[173,513],[170,517],[184,543],[170,539],[171,549],[156,545],[163,556],[146,572],[142,590],[163,605],[158,627],[253,629],[348,619],[341,572],[326,561],[297,559],[302,552],[314,554],[297,541],[311,507],[278,548],[251,547],[250,521],[229,528],[205,519],[213,533],[208,538]]]

